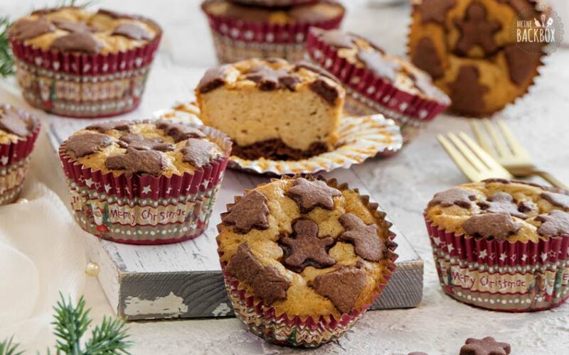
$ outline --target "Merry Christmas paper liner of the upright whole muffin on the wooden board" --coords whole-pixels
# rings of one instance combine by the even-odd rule
[[[170,178],[93,171],[73,162],[63,143],[59,156],[81,228],[124,244],[169,244],[199,236],[208,226],[231,151],[223,133],[200,129],[227,153],[193,174]]]

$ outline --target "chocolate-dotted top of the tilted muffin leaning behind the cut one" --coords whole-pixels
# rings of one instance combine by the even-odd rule
[[[371,70],[398,89],[438,102],[449,102],[447,95],[432,83],[431,77],[403,58],[389,55],[375,43],[353,33],[312,28],[321,40],[356,67]]]

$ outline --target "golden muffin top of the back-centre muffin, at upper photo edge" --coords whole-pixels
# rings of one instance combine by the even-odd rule
[[[245,6],[227,0],[206,0],[202,4],[203,11],[213,16],[226,16],[242,21],[268,22],[271,24],[316,23],[342,16],[344,6],[336,1],[319,1],[317,3],[297,6],[268,8],[262,6]]]

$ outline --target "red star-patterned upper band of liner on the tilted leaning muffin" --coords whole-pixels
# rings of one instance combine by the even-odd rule
[[[358,95],[355,99],[368,99],[373,107],[384,109],[383,114],[400,115],[419,121],[430,121],[447,109],[449,103],[427,99],[398,89],[393,84],[378,77],[374,72],[363,67],[356,67],[346,58],[338,55],[338,50],[326,44],[317,33],[309,31],[307,38],[309,57],[336,76],[346,87]],[[389,114],[393,112],[393,114]]]

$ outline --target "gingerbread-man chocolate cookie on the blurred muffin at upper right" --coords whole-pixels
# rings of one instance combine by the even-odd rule
[[[455,48],[459,55],[467,55],[475,45],[479,45],[485,55],[491,55],[498,50],[494,33],[500,30],[501,25],[486,19],[486,8],[482,4],[470,4],[464,19],[456,19],[454,23],[461,33]]]

